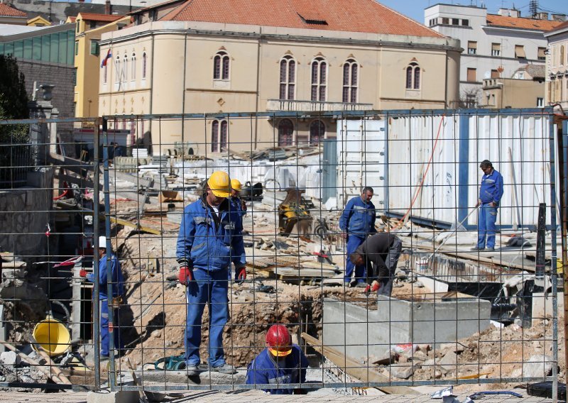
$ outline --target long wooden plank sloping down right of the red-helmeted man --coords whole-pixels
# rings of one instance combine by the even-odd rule
[[[361,367],[361,363],[346,357],[334,348],[322,346],[322,342],[319,339],[307,333],[302,332],[302,338],[318,353],[324,355],[325,358],[337,365],[342,371],[352,377],[356,377],[361,380],[361,382],[391,382],[388,377],[378,373],[376,370],[373,370],[373,368]],[[377,386],[376,388],[388,394],[418,394],[418,392],[407,386]]]

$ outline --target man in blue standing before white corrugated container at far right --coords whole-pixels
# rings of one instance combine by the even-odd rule
[[[497,209],[503,196],[503,177],[493,168],[489,160],[479,165],[484,172],[479,187],[479,216],[477,219],[477,245],[473,250],[495,250]]]

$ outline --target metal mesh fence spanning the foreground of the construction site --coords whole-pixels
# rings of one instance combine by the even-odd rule
[[[67,138],[61,122],[0,122],[48,125],[18,145],[33,160],[0,164],[0,338],[19,354],[1,385],[565,376],[551,110],[112,116]]]

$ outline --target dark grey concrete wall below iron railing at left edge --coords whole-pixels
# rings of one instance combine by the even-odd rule
[[[48,252],[53,171],[32,172],[31,179],[37,187],[0,192],[0,248],[23,260],[38,260]]]

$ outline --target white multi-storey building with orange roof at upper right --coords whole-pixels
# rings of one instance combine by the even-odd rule
[[[484,79],[510,78],[523,65],[545,65],[545,32],[566,18],[540,13],[535,18],[520,11],[499,9],[497,14],[484,7],[436,4],[424,11],[425,25],[460,41],[459,97],[461,106],[486,104]],[[542,94],[544,96],[544,94]],[[535,106],[532,100],[526,107]]]

